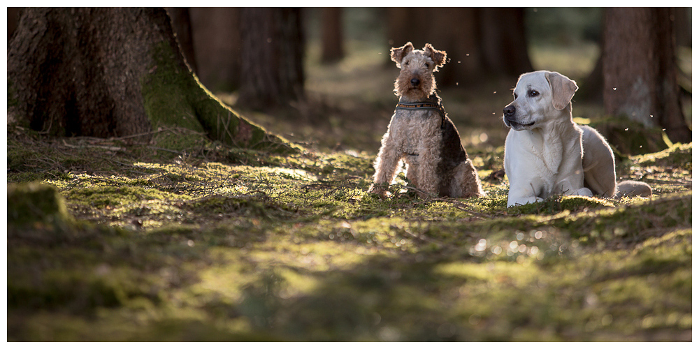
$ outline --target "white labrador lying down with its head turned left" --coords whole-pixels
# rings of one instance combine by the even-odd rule
[[[617,186],[607,141],[594,128],[572,121],[575,91],[575,81],[559,73],[539,70],[519,77],[514,101],[503,109],[511,128],[505,140],[507,207],[552,195],[651,195],[641,182]]]

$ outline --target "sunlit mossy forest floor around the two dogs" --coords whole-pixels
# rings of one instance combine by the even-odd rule
[[[691,144],[617,158],[651,199],[507,208],[515,81],[464,82],[440,95],[488,195],[422,200],[401,175],[380,200],[398,70],[366,57],[311,65],[293,112],[243,111],[306,148],[288,156],[8,126],[8,340],[691,341]]]

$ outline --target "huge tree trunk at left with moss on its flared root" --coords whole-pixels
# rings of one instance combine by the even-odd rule
[[[164,8],[24,8],[8,47],[8,124],[122,137],[180,126],[238,147],[288,148],[189,70]]]

